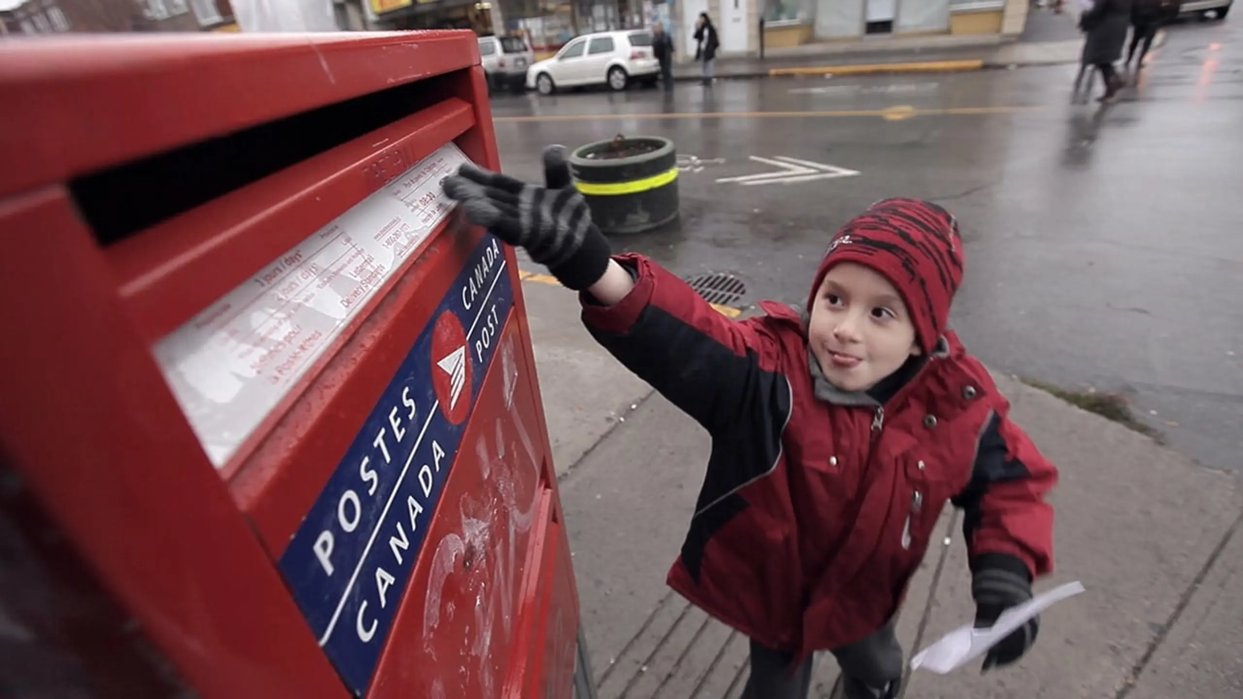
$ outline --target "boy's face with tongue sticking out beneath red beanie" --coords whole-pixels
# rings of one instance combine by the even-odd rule
[[[824,377],[842,391],[866,391],[920,353],[901,295],[870,267],[834,265],[810,312],[812,353]]]

